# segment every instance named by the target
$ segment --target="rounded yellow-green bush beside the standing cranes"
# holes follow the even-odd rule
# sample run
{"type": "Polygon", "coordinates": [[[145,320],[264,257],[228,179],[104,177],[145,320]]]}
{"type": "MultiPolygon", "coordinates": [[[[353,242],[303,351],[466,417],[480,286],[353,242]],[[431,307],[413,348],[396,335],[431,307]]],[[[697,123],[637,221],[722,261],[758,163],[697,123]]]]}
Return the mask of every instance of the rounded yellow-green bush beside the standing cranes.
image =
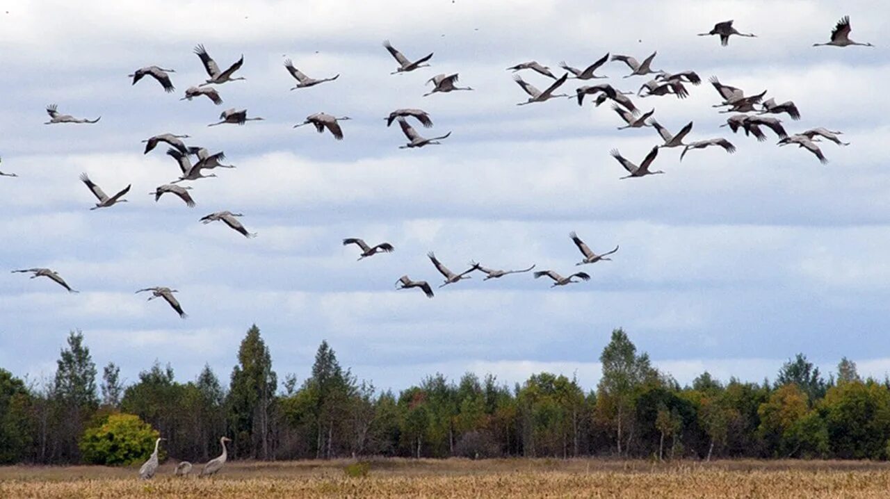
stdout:
{"type": "Polygon", "coordinates": [[[149,458],[158,431],[134,414],[108,414],[84,431],[79,447],[86,463],[132,464],[149,458]]]}

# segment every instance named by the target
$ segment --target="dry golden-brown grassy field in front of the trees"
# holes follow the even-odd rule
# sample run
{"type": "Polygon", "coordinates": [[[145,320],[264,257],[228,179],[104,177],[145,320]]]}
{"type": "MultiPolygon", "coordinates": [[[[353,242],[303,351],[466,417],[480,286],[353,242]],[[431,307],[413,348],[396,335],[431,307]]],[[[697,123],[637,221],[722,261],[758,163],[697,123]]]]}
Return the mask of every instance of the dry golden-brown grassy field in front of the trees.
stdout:
{"type": "Polygon", "coordinates": [[[890,496],[890,466],[863,462],[384,459],[364,478],[348,461],[229,463],[212,479],[150,481],[136,468],[0,468],[0,497],[627,497],[789,498],[890,496]]]}

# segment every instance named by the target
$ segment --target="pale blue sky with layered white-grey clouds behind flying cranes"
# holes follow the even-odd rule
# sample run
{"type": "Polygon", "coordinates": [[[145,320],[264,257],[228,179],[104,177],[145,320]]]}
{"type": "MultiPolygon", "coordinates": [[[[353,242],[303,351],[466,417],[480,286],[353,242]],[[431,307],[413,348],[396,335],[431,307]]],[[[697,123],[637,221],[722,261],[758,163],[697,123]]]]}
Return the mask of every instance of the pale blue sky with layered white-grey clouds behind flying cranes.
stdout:
{"type": "MultiPolygon", "coordinates": [[[[52,375],[70,329],[83,330],[98,365],[114,361],[133,381],[158,359],[192,379],[209,363],[223,380],[256,323],[279,374],[309,374],[323,339],[344,366],[378,387],[401,389],[439,371],[497,374],[505,382],[549,370],[593,387],[612,328],[624,327],[655,364],[689,382],[773,377],[798,351],[826,369],[841,356],[865,374],[890,372],[890,172],[886,138],[890,12],[870,2],[624,2],[408,0],[332,2],[10,2],[0,8],[0,366],[52,375]],[[850,15],[857,41],[877,48],[813,48],[850,15]],[[756,38],[699,37],[734,19],[756,38]],[[391,76],[392,41],[433,67],[391,76]],[[244,54],[246,81],[218,87],[223,105],[179,101],[206,74],[192,52],[205,44],[221,67],[244,54]],[[738,148],[662,149],[664,175],[619,181],[616,148],[639,162],[659,143],[651,129],[618,131],[608,106],[569,100],[517,107],[526,95],[505,68],[538,60],[586,67],[605,52],[657,69],[719,76],[749,93],[793,100],[789,132],[825,126],[852,145],[822,143],[828,165],[803,149],[732,135],[707,84],[674,97],[635,98],[689,140],[728,137],[738,148]],[[282,62],[336,82],[289,92],[282,62]],[[174,68],[176,92],[135,68],[174,68]],[[421,97],[425,81],[459,72],[474,92],[421,97]],[[101,115],[97,125],[43,125],[44,107],[101,115]],[[223,109],[265,121],[207,128],[223,109]],[[404,150],[392,109],[422,108],[440,146],[404,150]],[[349,116],[345,139],[291,128],[326,111],[349,116]],[[177,166],[141,140],[188,133],[224,150],[234,170],[193,182],[198,206],[148,193],[177,166]],[[129,203],[90,211],[78,181],[106,191],[132,183],[129,203]],[[242,212],[255,239],[198,219],[242,212]],[[577,270],[568,233],[613,262],[588,266],[590,282],[550,289],[530,275],[437,290],[396,292],[402,274],[452,269],[577,270]],[[390,241],[393,254],[356,262],[343,237],[390,241]],[[57,270],[80,294],[8,270],[57,270]],[[136,289],[180,290],[182,320],[136,289]]],[[[603,74],[636,91],[648,77],[603,74]]],[[[524,72],[541,89],[548,79],[524,72]]],[[[604,81],[604,80],[601,80],[604,81]]],[[[577,85],[570,80],[566,89],[577,85]]]]}

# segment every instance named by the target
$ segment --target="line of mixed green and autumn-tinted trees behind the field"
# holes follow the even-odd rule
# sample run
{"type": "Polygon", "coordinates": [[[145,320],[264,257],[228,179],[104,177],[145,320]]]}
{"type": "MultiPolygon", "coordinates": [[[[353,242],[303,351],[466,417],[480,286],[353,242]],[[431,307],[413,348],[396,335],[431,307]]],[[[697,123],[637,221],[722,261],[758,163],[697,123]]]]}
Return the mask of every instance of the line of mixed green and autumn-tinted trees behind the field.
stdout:
{"type": "Polygon", "coordinates": [[[252,326],[228,386],[209,366],[177,382],[158,361],[125,386],[113,363],[99,374],[74,331],[51,380],[28,382],[0,368],[0,463],[91,462],[96,447],[85,441],[107,437],[109,416],[150,444],[159,434],[167,456],[192,462],[219,454],[223,435],[231,458],[258,460],[890,457],[890,379],[862,379],[846,358],[827,378],[797,354],[773,382],[721,382],[705,372],[681,387],[616,329],[600,361],[595,390],[561,374],[510,387],[466,373],[457,381],[428,375],[396,393],[359,381],[321,342],[309,377],[279,382],[252,326]]]}

